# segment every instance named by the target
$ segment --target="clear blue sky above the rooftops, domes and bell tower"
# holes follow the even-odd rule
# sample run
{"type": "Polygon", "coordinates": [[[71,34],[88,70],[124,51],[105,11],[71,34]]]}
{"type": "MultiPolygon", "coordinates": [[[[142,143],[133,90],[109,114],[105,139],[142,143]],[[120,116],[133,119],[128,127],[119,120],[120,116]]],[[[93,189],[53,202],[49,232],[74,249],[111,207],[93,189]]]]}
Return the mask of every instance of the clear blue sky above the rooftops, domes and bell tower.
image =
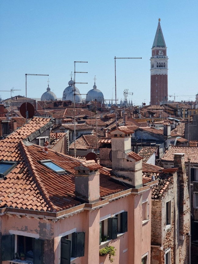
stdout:
{"type": "MultiPolygon", "coordinates": [[[[0,90],[21,89],[25,73],[49,74],[57,97],[70,80],[74,61],[76,85],[86,93],[94,85],[105,99],[115,98],[114,57],[142,57],[116,61],[117,97],[133,92],[135,104],[150,101],[150,56],[158,18],[167,45],[168,94],[194,100],[197,86],[197,1],[0,1],[0,90]]],[[[40,98],[48,77],[28,76],[27,96],[40,98]]],[[[10,93],[0,92],[2,98],[10,93]]],[[[82,96],[83,97],[83,96],[82,96]]],[[[173,98],[172,98],[173,99],[173,98]]]]}

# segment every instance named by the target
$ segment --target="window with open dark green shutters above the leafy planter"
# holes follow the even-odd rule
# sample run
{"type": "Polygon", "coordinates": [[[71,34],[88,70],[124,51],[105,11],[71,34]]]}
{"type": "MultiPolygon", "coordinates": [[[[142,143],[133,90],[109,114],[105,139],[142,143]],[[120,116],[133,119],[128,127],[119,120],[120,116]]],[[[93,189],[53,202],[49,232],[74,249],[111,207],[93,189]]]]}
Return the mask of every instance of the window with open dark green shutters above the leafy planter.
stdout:
{"type": "Polygon", "coordinates": [[[127,212],[122,212],[120,214],[115,215],[114,217],[108,218],[107,220],[108,239],[116,239],[119,234],[127,232],[127,212]]]}

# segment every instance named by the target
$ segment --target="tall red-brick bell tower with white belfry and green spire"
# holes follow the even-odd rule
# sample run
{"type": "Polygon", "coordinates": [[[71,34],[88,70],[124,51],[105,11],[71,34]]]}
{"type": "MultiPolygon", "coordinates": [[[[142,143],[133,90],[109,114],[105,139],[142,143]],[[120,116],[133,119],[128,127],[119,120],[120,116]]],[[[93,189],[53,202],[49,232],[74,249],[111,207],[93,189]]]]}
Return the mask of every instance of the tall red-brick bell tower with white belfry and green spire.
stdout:
{"type": "Polygon", "coordinates": [[[168,56],[166,54],[166,44],[161,30],[160,18],[151,50],[150,103],[151,105],[160,105],[161,101],[164,101],[165,98],[168,99],[168,56]]]}

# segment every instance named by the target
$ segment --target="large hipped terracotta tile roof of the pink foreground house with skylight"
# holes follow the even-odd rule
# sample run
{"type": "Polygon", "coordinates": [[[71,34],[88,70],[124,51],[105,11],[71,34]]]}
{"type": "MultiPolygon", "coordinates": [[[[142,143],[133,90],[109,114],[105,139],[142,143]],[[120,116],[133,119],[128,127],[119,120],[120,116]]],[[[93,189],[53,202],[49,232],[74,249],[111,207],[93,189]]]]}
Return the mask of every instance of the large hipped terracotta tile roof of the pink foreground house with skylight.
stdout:
{"type": "MultiPolygon", "coordinates": [[[[18,151],[23,155],[25,162],[12,170],[6,178],[0,180],[0,190],[2,190],[0,206],[57,212],[80,204],[75,200],[74,195],[75,171],[73,168],[80,165],[81,162],[78,159],[53,150],[49,150],[47,154],[40,146],[26,146],[22,141],[18,151]],[[65,169],[66,173],[57,174],[38,162],[44,159],[51,159],[65,169]],[[14,199],[10,199],[12,196],[14,199]]],[[[127,189],[112,182],[108,170],[102,166],[86,163],[84,165],[90,169],[99,168],[101,197],[127,189]]]]}

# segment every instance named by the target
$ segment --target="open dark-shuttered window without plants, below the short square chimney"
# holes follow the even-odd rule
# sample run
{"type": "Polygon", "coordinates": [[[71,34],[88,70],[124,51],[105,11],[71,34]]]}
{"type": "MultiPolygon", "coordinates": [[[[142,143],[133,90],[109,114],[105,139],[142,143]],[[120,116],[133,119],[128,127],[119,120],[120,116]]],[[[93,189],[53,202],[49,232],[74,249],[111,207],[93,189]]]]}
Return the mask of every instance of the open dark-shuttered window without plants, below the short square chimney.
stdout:
{"type": "Polygon", "coordinates": [[[85,232],[73,232],[61,237],[61,264],[70,264],[71,258],[84,256],[85,232]]]}

